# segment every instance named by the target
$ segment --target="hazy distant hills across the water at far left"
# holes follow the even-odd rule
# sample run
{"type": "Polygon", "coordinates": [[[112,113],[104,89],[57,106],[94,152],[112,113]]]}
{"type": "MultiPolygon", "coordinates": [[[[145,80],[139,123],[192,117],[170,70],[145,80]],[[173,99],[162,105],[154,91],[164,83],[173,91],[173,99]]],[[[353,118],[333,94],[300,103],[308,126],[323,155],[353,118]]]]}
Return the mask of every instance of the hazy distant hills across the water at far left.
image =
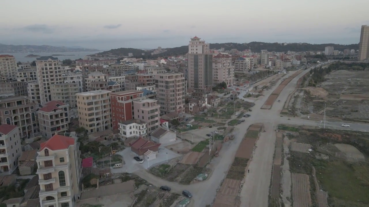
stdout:
{"type": "Polygon", "coordinates": [[[0,44],[0,53],[55,53],[55,52],[96,52],[97,49],[67,48],[50,45],[4,45],[0,44]]]}

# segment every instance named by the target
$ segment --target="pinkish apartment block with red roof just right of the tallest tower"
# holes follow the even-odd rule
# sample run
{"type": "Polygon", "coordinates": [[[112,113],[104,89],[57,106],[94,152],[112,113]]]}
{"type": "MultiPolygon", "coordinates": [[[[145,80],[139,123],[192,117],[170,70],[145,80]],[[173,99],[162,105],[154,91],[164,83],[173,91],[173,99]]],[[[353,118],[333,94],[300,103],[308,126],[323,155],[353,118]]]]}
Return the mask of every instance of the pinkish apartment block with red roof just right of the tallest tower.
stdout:
{"type": "Polygon", "coordinates": [[[229,55],[219,54],[213,57],[213,83],[226,83],[233,85],[234,66],[232,65],[232,57],[229,55]]]}

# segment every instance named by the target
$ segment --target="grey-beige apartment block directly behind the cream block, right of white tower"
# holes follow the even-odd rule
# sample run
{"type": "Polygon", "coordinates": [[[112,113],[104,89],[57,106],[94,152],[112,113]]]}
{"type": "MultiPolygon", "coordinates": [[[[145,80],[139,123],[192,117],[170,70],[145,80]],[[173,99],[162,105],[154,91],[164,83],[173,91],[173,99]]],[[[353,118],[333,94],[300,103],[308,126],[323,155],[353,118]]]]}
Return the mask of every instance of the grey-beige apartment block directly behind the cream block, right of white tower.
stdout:
{"type": "Polygon", "coordinates": [[[77,107],[76,94],[82,91],[77,83],[59,83],[51,85],[51,100],[68,104],[70,108],[77,107]]]}

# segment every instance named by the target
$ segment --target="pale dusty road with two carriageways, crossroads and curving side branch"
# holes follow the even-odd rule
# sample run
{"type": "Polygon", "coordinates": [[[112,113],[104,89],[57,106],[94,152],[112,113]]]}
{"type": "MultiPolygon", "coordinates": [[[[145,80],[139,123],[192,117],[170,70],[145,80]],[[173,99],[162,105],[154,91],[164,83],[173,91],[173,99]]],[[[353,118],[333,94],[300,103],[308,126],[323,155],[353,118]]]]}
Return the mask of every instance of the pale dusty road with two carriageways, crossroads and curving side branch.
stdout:
{"type": "MultiPolygon", "coordinates": [[[[239,144],[242,141],[244,134],[248,127],[253,123],[264,123],[266,132],[261,134],[261,137],[256,142],[256,150],[254,151],[254,158],[252,159],[249,169],[250,173],[247,173],[245,183],[241,191],[241,206],[245,207],[267,207],[269,185],[272,171],[272,162],[275,146],[275,129],[280,123],[285,124],[299,124],[308,126],[318,126],[320,121],[301,119],[297,117],[280,117],[280,112],[283,108],[283,103],[287,100],[289,94],[294,91],[297,80],[306,74],[309,70],[303,71],[295,77],[280,93],[278,99],[281,102],[276,102],[271,109],[260,109],[273,90],[282,82],[277,82],[275,87],[265,92],[265,96],[262,99],[255,101],[251,117],[246,119],[246,122],[239,124],[235,129],[235,139],[224,143],[222,150],[218,157],[212,159],[210,164],[212,165],[214,172],[210,177],[199,183],[192,185],[180,185],[175,182],[168,182],[167,180],[159,179],[146,171],[137,171],[137,175],[148,180],[148,182],[156,185],[168,185],[172,187],[173,192],[181,193],[186,189],[192,192],[193,198],[189,207],[204,207],[207,204],[211,204],[217,193],[217,189],[220,186],[221,181],[224,179],[228,168],[230,167],[239,144]],[[288,120],[290,118],[290,120],[288,120]]],[[[351,129],[365,131],[369,129],[366,124],[351,124],[349,128],[341,127],[341,122],[326,122],[326,128],[334,129],[351,129]]]]}

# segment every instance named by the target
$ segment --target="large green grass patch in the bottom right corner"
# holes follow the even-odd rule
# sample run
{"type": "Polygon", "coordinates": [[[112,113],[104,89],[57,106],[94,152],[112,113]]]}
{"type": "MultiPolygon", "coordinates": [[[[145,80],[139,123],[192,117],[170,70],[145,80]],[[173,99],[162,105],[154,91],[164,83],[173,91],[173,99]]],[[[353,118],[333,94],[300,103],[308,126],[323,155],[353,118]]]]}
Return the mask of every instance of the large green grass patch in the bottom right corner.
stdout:
{"type": "Polygon", "coordinates": [[[317,166],[317,178],[330,197],[369,204],[369,165],[367,163],[326,162],[317,166]]]}

